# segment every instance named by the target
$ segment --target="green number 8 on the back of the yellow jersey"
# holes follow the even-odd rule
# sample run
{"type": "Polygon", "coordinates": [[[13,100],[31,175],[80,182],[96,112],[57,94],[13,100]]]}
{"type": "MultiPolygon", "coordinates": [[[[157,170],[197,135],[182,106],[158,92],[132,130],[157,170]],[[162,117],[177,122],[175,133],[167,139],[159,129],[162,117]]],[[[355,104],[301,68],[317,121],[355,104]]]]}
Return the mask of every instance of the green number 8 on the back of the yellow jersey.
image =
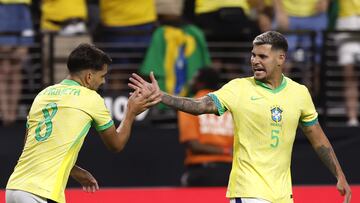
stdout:
{"type": "Polygon", "coordinates": [[[35,129],[35,139],[39,142],[44,141],[49,138],[52,132],[52,121],[51,119],[55,116],[57,112],[57,104],[56,103],[49,103],[42,109],[44,120],[38,123],[38,126],[35,129]],[[45,135],[41,135],[41,128],[45,124],[45,135]]]}

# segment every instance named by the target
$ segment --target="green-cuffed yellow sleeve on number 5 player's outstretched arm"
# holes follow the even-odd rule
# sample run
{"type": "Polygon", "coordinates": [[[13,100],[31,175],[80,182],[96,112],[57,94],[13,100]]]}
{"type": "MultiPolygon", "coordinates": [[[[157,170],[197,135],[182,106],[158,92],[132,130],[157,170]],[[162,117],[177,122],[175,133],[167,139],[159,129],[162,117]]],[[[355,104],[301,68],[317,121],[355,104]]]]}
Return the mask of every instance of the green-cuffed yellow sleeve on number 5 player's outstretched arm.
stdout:
{"type": "Polygon", "coordinates": [[[232,106],[236,106],[237,97],[235,91],[239,91],[239,87],[235,80],[225,84],[219,90],[209,93],[208,95],[215,102],[218,109],[218,115],[223,115],[227,110],[231,111],[232,106]]]}

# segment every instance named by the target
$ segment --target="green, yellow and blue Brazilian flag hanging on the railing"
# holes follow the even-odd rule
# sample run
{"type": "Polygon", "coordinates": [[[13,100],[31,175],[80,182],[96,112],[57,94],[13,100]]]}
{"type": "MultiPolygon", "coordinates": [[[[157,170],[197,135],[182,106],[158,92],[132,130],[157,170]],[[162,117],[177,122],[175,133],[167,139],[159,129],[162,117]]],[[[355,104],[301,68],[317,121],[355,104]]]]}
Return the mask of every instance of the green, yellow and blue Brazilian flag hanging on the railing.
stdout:
{"type": "Polygon", "coordinates": [[[153,33],[142,75],[154,72],[161,90],[187,96],[186,84],[198,69],[211,63],[203,32],[194,25],[161,26],[153,33]]]}

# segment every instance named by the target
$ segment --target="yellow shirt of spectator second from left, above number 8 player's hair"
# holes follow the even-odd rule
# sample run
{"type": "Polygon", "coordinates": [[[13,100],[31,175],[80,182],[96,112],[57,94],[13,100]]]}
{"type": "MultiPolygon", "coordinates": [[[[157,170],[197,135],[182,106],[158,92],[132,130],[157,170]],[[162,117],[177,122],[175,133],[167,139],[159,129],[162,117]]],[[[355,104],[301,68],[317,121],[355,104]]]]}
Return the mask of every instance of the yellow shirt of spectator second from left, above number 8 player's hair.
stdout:
{"type": "Polygon", "coordinates": [[[87,19],[87,7],[85,0],[42,0],[41,29],[58,31],[60,26],[49,22],[63,22],[71,18],[87,19]]]}

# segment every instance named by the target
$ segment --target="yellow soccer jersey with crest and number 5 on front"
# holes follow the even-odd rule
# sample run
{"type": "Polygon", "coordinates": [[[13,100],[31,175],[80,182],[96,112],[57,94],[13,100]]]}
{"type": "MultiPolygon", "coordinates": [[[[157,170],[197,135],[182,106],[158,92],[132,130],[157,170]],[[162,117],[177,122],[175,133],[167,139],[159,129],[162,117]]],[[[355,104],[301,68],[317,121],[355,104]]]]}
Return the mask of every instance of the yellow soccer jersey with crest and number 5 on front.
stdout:
{"type": "Polygon", "coordinates": [[[234,155],[226,196],[292,202],[290,162],[298,123],[317,122],[307,88],[287,77],[272,90],[253,77],[210,93],[219,114],[234,121],[234,155]]]}

